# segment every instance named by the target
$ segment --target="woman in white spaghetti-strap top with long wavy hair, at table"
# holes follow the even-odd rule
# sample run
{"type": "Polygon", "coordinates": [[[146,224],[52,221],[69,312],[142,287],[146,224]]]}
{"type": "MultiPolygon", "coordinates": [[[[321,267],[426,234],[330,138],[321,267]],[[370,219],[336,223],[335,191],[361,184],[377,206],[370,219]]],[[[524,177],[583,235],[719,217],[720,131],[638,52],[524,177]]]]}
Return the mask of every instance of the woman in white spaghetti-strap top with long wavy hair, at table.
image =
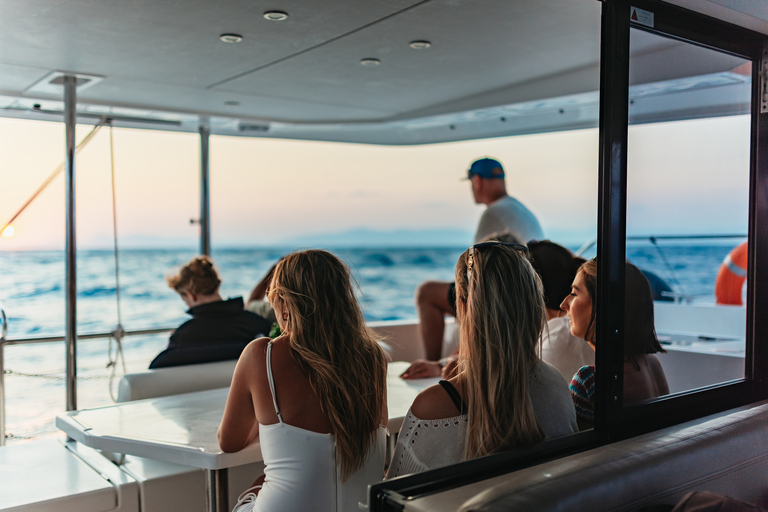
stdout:
{"type": "Polygon", "coordinates": [[[384,471],[384,352],[329,252],[288,255],[267,297],[283,334],[243,351],[219,427],[223,451],[258,435],[264,456],[236,510],[357,510],[384,471]]]}

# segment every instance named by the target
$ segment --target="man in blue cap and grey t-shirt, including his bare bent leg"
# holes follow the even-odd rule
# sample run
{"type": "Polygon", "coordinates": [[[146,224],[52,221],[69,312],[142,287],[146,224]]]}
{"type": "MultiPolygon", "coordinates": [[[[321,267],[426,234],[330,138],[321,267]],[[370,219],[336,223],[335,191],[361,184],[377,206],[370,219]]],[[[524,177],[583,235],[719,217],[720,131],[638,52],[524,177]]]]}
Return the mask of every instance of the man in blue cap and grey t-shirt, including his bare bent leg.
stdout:
{"type": "MultiPolygon", "coordinates": [[[[477,225],[474,243],[499,235],[523,244],[544,238],[536,216],[523,203],[507,194],[504,168],[498,160],[475,160],[467,171],[467,179],[472,184],[475,202],[487,206],[477,225]]],[[[443,350],[445,315],[456,316],[455,283],[421,283],[416,289],[416,310],[419,313],[419,335],[424,343],[427,360],[415,362],[402,377],[417,379],[440,376],[444,361],[438,360],[443,350]]]]}

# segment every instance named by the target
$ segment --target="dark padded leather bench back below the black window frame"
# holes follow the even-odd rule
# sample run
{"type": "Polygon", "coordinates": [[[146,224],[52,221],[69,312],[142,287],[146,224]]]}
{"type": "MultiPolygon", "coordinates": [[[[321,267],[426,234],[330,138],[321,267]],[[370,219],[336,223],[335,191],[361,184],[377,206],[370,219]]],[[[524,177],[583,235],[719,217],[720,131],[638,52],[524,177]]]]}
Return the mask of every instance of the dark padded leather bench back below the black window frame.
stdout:
{"type": "Polygon", "coordinates": [[[418,497],[402,510],[639,510],[694,490],[768,505],[768,405],[761,402],[477,484],[418,497]]]}

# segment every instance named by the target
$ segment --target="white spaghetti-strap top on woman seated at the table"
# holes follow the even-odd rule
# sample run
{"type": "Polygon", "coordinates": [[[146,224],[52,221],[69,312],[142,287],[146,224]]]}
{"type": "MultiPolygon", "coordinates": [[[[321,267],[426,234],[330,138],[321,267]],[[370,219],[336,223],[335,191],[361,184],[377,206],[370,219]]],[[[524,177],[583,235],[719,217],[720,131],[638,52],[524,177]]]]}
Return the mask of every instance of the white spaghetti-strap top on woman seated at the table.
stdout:
{"type": "Polygon", "coordinates": [[[333,434],[312,432],[283,421],[272,378],[271,343],[267,345],[267,378],[279,421],[272,425],[259,424],[266,478],[254,511],[360,510],[358,503],[367,503],[368,485],[380,482],[384,476],[386,428],[379,427],[376,445],[371,447],[363,467],[342,482],[333,434]]]}

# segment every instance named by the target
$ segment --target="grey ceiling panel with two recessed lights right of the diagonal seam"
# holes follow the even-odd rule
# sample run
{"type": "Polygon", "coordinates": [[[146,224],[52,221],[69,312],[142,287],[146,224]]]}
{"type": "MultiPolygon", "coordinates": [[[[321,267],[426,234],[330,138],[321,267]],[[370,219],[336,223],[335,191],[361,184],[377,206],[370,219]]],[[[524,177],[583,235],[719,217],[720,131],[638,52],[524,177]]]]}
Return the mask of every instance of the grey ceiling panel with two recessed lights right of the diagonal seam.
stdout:
{"type": "Polygon", "coordinates": [[[344,101],[402,116],[594,65],[599,15],[594,0],[433,0],[217,89],[344,101]],[[433,46],[413,50],[415,39],[433,46]],[[368,57],[381,65],[361,66],[368,57]]]}

